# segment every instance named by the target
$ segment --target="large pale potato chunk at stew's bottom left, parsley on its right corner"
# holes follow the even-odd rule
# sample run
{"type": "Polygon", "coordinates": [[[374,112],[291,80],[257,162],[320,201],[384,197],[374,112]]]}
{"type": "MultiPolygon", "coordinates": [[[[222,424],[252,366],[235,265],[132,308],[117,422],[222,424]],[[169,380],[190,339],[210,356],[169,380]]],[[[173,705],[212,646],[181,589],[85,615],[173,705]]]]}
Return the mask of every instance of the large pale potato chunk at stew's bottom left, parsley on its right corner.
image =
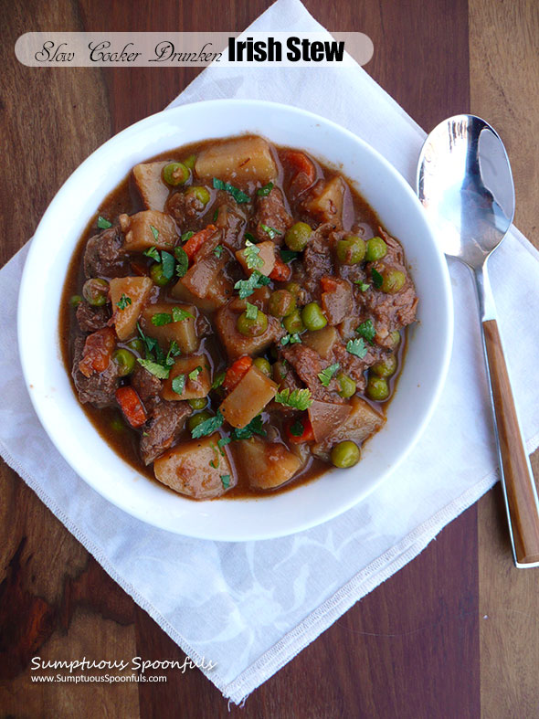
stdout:
{"type": "Polygon", "coordinates": [[[210,437],[182,442],[153,462],[157,480],[196,500],[219,497],[238,481],[227,447],[218,449],[221,439],[216,432],[210,437]]]}

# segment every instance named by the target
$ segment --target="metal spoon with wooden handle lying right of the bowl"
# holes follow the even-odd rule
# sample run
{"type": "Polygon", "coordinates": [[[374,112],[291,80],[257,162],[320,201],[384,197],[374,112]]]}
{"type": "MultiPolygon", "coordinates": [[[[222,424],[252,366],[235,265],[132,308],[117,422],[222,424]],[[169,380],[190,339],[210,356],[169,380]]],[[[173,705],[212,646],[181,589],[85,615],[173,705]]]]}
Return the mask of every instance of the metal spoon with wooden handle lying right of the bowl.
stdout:
{"type": "Polygon", "coordinates": [[[494,434],[515,566],[539,566],[539,502],[524,449],[491,295],[487,259],[514,215],[509,158],[491,125],[456,115],[428,135],[417,167],[417,196],[448,257],[467,265],[477,289],[494,434]]]}

